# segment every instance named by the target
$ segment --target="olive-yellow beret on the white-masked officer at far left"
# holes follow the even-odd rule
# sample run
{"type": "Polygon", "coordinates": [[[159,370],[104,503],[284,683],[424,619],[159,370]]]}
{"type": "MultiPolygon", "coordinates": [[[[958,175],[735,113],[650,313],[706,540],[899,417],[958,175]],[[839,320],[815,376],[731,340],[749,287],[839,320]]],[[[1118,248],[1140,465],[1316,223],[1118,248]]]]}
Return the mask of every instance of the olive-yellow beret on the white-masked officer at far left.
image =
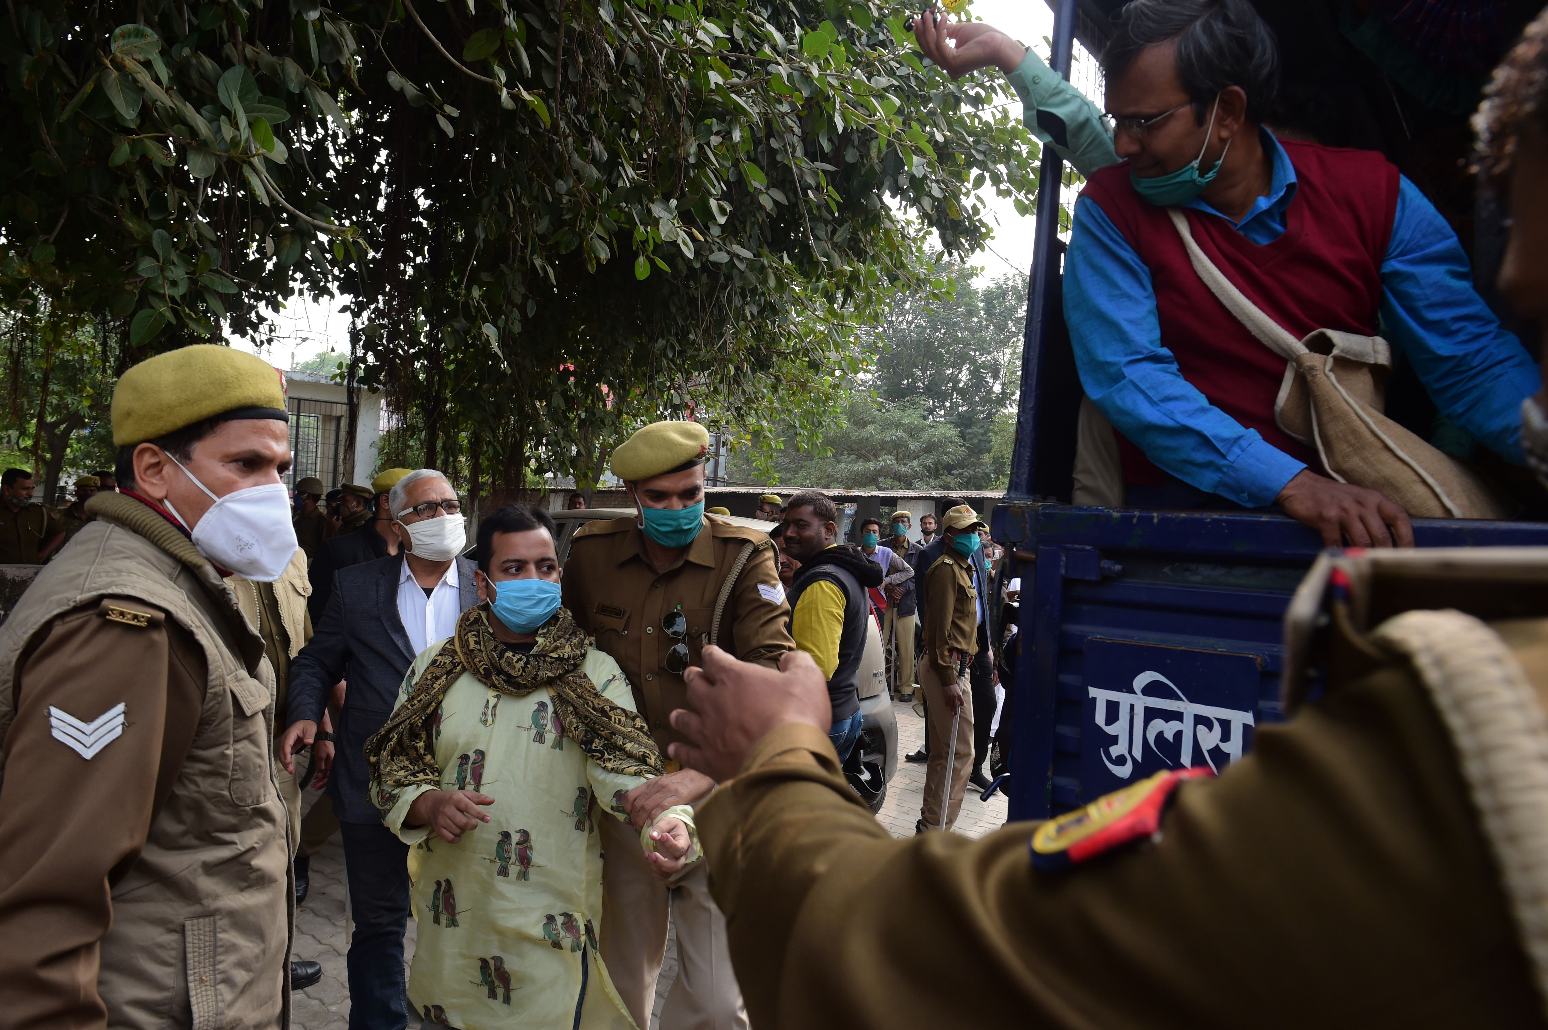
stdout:
{"type": "Polygon", "coordinates": [[[285,376],[257,354],[217,343],[149,357],[113,388],[113,445],[142,444],[217,414],[289,421],[285,376]]]}

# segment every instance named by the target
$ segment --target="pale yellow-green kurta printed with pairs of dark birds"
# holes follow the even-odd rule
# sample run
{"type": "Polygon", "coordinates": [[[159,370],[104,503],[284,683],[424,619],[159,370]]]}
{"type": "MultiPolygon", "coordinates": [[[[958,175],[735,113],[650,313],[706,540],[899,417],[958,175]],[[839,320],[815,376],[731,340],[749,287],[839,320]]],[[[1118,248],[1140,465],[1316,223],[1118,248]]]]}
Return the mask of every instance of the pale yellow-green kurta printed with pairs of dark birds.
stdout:
{"type": "MultiPolygon", "coordinates": [[[[399,705],[440,648],[433,643],[415,660],[399,705]]],[[[591,648],[584,668],[605,697],[635,708],[613,659],[591,648]]],[[[500,694],[463,673],[435,725],[441,789],[478,790],[495,801],[483,809],[491,820],[455,844],[429,827],[402,824],[413,800],[433,787],[396,792],[387,812],[387,827],[410,846],[418,920],[410,1005],[426,1025],[463,1030],[633,1027],[596,953],[602,922],[596,820],[624,818],[622,795],[644,779],[591,762],[565,738],[548,690],[500,694]]],[[[664,815],[694,834],[690,807],[664,815]]],[[[647,834],[641,843],[650,848],[647,834]]],[[[690,857],[697,854],[695,838],[690,857]]]]}

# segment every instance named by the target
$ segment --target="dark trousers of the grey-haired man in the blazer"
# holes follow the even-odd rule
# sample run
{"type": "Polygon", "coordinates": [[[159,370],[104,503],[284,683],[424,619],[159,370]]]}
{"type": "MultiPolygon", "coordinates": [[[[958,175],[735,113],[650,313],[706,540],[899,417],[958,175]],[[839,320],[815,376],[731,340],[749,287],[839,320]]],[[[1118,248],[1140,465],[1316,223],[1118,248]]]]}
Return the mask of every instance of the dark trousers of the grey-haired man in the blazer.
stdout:
{"type": "Polygon", "coordinates": [[[350,877],[350,1030],[402,1030],[409,994],[402,934],[409,923],[409,846],[381,823],[341,823],[350,877]]]}

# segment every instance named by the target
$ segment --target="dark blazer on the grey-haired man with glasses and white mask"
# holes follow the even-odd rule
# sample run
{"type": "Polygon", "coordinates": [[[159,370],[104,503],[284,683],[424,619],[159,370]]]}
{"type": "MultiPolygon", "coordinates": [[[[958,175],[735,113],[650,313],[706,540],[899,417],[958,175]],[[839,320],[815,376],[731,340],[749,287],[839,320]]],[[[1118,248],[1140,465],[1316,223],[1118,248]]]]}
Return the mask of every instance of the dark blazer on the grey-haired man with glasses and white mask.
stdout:
{"type": "MultiPolygon", "coordinates": [[[[331,541],[330,541],[331,543],[331,541]]],[[[458,608],[478,603],[474,569],[457,558],[458,608]]],[[[398,616],[398,580],[402,554],[341,569],[333,578],[333,599],[317,622],[311,640],[289,671],[286,725],[297,719],[322,721],[333,685],[350,682],[339,718],[328,793],[344,823],[379,823],[382,813],[370,800],[365,741],[387,722],[398,702],[398,687],[413,663],[413,645],[398,616]]]]}

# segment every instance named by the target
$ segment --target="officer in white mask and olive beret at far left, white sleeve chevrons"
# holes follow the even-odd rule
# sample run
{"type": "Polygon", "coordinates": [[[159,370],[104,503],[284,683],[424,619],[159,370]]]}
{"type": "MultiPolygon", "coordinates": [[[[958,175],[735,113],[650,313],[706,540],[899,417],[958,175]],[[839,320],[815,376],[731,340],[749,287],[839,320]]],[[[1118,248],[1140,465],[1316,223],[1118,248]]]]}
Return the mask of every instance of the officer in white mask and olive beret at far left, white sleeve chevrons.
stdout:
{"type": "Polygon", "coordinates": [[[124,492],[0,628],[0,1021],[285,1027],[274,671],[221,578],[296,554],[283,380],[187,346],[111,419],[124,492]]]}

